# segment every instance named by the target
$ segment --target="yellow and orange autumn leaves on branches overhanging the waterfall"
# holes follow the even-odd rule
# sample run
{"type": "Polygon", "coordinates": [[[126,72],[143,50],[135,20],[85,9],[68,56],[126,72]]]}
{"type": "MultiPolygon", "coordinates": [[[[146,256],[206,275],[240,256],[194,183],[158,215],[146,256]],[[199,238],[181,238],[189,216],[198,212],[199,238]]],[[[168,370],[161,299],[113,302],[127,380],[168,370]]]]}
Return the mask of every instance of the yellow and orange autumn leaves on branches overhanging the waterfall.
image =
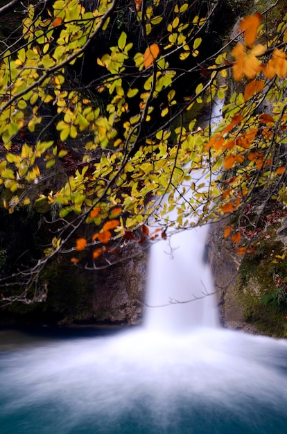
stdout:
{"type": "MultiPolygon", "coordinates": [[[[261,190],[263,202],[287,205],[287,15],[268,28],[268,11],[247,16],[234,40],[205,55],[218,2],[88,3],[27,2],[21,32],[1,40],[3,207],[50,210],[57,228],[43,257],[20,270],[15,300],[30,290],[37,300],[55,254],[78,263],[85,251],[96,268],[123,242],[243,213],[261,190]],[[195,114],[206,105],[204,124],[195,114]],[[76,239],[83,223],[89,236],[76,239]]],[[[229,235],[240,243],[236,227],[229,235]]]]}

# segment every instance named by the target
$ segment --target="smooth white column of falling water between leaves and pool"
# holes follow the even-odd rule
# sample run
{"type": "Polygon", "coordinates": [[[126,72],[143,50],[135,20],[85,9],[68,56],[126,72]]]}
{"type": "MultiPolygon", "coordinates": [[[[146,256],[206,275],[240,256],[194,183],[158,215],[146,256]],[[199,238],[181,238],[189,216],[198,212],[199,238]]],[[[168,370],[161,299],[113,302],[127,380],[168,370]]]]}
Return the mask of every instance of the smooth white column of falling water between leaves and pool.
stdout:
{"type": "Polygon", "coordinates": [[[214,287],[205,260],[208,227],[182,231],[150,252],[146,327],[166,333],[218,326],[214,287]],[[189,300],[195,300],[189,302],[189,300]]]}

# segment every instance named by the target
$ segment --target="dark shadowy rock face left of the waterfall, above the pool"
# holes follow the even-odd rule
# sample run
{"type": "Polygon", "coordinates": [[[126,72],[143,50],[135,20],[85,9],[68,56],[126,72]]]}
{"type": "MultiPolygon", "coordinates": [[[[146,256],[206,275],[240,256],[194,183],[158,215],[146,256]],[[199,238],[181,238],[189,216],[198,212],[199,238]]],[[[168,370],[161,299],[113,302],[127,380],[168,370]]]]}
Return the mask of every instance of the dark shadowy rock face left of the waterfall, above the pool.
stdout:
{"type": "MultiPolygon", "coordinates": [[[[17,265],[18,258],[21,263],[25,259],[28,266],[33,254],[42,253],[39,245],[44,244],[49,227],[43,226],[35,234],[41,216],[24,217],[11,214],[5,224],[2,219],[0,277],[3,272],[13,271],[10,264],[17,265]],[[28,256],[24,257],[22,251],[28,256]]],[[[58,255],[49,261],[41,275],[48,289],[46,301],[6,304],[0,311],[0,325],[139,324],[146,288],[147,247],[132,241],[119,249],[113,266],[100,270],[85,268],[85,259],[74,266],[69,255],[58,255]]]]}

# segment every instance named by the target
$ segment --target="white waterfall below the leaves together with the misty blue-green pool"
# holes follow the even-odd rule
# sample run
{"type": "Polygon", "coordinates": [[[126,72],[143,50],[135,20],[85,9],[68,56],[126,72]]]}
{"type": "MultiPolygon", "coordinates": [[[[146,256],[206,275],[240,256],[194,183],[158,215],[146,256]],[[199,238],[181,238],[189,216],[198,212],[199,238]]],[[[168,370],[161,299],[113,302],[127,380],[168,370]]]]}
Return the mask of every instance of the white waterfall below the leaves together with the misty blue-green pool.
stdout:
{"type": "MultiPolygon", "coordinates": [[[[206,232],[173,237],[173,259],[153,246],[148,304],[212,292],[206,232]]],[[[285,340],[218,327],[213,297],[147,308],[132,331],[0,352],[1,434],[283,434],[286,366],[285,340]]]]}

